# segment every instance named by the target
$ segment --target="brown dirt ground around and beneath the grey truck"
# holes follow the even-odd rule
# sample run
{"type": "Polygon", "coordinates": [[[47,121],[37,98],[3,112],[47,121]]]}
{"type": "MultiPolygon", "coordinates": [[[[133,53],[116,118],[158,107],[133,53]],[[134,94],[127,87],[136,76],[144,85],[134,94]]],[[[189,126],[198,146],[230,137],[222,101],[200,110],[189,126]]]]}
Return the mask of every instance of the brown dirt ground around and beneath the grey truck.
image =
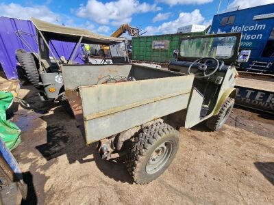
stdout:
{"type": "Polygon", "coordinates": [[[66,106],[40,102],[25,85],[9,118],[22,130],[13,151],[28,184],[23,204],[273,204],[273,116],[234,109],[210,132],[200,124],[180,130],[171,166],[150,184],[132,181],[125,163],[103,161],[84,139],[66,106]]]}

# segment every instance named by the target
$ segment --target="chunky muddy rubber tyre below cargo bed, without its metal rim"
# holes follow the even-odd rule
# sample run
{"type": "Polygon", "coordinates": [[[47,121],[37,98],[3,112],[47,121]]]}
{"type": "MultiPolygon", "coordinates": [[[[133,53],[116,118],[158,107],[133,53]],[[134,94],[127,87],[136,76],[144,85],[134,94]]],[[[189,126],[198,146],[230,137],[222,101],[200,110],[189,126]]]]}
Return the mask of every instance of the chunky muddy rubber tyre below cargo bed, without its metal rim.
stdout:
{"type": "Polygon", "coordinates": [[[158,178],[173,161],[179,146],[179,132],[163,122],[151,124],[134,135],[132,145],[126,156],[127,171],[137,184],[147,184],[158,178]],[[161,144],[171,143],[171,154],[168,155],[160,170],[147,173],[147,163],[151,154],[161,144]]]}

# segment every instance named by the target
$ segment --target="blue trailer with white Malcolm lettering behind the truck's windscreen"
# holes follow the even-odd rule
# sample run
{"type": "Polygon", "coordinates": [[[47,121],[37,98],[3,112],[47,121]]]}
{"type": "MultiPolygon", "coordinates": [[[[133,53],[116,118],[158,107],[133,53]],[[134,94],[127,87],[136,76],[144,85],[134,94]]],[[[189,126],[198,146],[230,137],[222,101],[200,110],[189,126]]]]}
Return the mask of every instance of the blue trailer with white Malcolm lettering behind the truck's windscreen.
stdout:
{"type": "Polygon", "coordinates": [[[240,50],[251,50],[251,70],[274,72],[274,3],[216,14],[210,33],[241,32],[240,50]]]}

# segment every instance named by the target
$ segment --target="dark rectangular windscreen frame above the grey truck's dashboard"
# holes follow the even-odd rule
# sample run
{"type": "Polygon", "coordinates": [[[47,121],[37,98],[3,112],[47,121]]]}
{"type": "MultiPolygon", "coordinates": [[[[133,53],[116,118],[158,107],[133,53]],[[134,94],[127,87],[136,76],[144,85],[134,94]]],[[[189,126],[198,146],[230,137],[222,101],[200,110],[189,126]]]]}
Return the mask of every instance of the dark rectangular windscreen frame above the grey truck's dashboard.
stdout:
{"type": "Polygon", "coordinates": [[[227,37],[227,36],[235,36],[236,37],[236,42],[235,42],[235,47],[234,47],[234,53],[231,57],[225,59],[218,57],[217,59],[224,61],[225,64],[233,64],[236,63],[237,57],[238,57],[238,51],[240,48],[240,39],[242,36],[242,33],[221,33],[221,34],[210,34],[210,35],[203,35],[203,36],[192,36],[192,37],[186,37],[186,38],[181,38],[180,43],[179,43],[179,55],[178,55],[178,60],[179,61],[195,61],[201,57],[185,57],[181,55],[181,44],[183,40],[190,40],[190,39],[198,39],[198,38],[219,38],[219,37],[227,37]]]}

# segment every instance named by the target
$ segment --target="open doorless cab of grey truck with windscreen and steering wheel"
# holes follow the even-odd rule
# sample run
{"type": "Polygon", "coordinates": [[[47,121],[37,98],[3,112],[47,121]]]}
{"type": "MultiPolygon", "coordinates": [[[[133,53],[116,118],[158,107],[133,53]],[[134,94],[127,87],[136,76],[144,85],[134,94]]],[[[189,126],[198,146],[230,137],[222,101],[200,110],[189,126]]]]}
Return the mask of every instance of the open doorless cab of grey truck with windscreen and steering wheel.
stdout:
{"type": "Polygon", "coordinates": [[[182,38],[177,60],[170,62],[169,70],[195,75],[193,94],[201,106],[194,108],[199,115],[191,119],[188,126],[202,119],[210,121],[227,98],[235,98],[240,36],[240,33],[223,33],[182,38]]]}

